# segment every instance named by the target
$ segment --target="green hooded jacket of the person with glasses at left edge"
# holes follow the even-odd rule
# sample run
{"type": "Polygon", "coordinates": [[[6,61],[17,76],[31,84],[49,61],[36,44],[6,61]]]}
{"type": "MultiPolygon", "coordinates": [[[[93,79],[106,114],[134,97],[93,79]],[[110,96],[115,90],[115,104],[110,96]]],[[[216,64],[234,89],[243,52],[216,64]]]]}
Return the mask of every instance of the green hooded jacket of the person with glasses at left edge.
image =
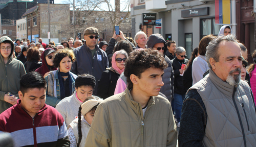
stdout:
{"type": "Polygon", "coordinates": [[[4,101],[4,96],[7,92],[11,92],[16,97],[19,91],[19,79],[26,74],[24,65],[21,61],[12,58],[14,52],[14,43],[11,38],[3,36],[0,38],[0,43],[8,40],[12,46],[11,54],[8,62],[5,64],[4,58],[0,55],[0,113],[10,108],[12,104],[4,101]]]}

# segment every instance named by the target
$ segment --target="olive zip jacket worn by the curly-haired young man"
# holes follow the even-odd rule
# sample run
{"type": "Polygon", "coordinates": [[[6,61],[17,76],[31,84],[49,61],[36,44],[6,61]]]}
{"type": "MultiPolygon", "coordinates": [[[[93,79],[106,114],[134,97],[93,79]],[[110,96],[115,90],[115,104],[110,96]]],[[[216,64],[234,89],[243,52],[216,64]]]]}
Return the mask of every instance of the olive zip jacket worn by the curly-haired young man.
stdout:
{"type": "Polygon", "coordinates": [[[85,146],[176,146],[177,129],[167,99],[150,97],[145,116],[128,89],[96,109],[85,146]]]}

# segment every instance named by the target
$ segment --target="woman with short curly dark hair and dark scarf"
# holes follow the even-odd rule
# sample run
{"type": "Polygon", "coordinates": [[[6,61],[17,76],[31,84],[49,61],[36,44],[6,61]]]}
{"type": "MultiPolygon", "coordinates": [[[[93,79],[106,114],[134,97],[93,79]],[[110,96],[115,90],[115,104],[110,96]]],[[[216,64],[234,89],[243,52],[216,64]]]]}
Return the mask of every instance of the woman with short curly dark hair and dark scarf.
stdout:
{"type": "Polygon", "coordinates": [[[72,50],[59,50],[53,59],[53,65],[58,70],[51,71],[46,76],[46,104],[55,107],[62,99],[75,91],[76,75],[70,72],[75,55],[72,50]]]}

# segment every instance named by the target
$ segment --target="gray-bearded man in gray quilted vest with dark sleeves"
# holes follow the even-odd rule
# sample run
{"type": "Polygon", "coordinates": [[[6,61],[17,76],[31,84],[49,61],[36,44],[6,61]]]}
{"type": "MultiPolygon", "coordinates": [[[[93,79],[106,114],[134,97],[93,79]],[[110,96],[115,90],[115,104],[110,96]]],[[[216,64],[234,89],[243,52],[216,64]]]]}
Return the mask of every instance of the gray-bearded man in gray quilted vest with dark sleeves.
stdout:
{"type": "Polygon", "coordinates": [[[209,74],[183,101],[179,146],[255,146],[256,114],[249,85],[241,80],[242,54],[234,36],[206,48],[209,74]]]}

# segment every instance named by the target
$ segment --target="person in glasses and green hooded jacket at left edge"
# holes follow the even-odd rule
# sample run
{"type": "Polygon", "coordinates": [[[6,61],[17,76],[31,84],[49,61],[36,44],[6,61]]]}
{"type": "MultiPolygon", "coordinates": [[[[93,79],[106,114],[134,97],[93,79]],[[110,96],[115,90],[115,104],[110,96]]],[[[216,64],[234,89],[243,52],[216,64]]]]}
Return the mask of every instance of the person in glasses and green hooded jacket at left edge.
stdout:
{"type": "Polygon", "coordinates": [[[0,114],[17,104],[19,78],[26,74],[21,61],[13,59],[14,43],[11,38],[0,38],[0,114]],[[8,94],[8,93],[11,93],[8,94]]]}

